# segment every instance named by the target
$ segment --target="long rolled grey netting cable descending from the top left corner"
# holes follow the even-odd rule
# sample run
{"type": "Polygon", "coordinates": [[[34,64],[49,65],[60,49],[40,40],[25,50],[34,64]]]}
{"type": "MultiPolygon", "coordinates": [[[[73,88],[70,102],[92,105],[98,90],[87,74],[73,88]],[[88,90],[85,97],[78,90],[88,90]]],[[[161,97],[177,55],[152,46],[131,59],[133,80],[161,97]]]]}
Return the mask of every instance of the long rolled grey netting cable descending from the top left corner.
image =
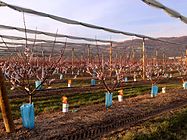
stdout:
{"type": "Polygon", "coordinates": [[[84,27],[88,27],[88,28],[92,28],[92,29],[98,29],[98,30],[103,30],[103,31],[116,33],[116,34],[123,34],[123,35],[128,35],[128,36],[136,36],[136,37],[139,37],[139,38],[147,38],[147,39],[156,40],[156,41],[160,41],[160,42],[165,42],[165,43],[169,43],[169,44],[182,45],[180,43],[169,42],[169,41],[166,41],[166,40],[161,40],[161,39],[153,38],[153,37],[150,37],[150,36],[145,36],[145,35],[135,34],[135,33],[130,33],[130,32],[124,32],[124,31],[110,29],[110,28],[105,28],[105,27],[102,27],[102,26],[88,24],[88,23],[84,23],[84,22],[80,22],[80,21],[76,21],[76,20],[71,20],[71,19],[67,19],[67,18],[63,18],[63,17],[59,17],[59,16],[55,16],[55,15],[51,15],[51,14],[35,11],[35,10],[32,10],[32,9],[11,5],[11,4],[2,2],[2,1],[0,1],[0,6],[7,6],[7,7],[13,9],[13,10],[16,10],[16,11],[19,11],[19,12],[25,12],[25,13],[29,13],[29,14],[33,14],[33,15],[38,15],[38,16],[41,16],[41,17],[48,17],[48,18],[51,18],[53,20],[56,20],[56,21],[59,21],[59,22],[62,22],[62,23],[66,23],[66,24],[81,25],[81,26],[84,26],[84,27]]]}

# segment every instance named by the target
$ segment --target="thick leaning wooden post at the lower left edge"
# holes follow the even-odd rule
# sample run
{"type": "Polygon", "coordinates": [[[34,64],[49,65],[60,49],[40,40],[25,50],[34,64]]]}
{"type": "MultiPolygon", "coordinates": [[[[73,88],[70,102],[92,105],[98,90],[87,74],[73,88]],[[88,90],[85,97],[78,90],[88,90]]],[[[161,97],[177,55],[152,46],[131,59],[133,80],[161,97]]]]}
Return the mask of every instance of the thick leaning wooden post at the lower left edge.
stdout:
{"type": "Polygon", "coordinates": [[[2,112],[2,117],[3,117],[6,132],[7,133],[13,132],[14,123],[12,119],[11,109],[8,102],[8,96],[6,93],[4,77],[1,68],[0,68],[0,106],[1,106],[1,112],[2,112]]]}

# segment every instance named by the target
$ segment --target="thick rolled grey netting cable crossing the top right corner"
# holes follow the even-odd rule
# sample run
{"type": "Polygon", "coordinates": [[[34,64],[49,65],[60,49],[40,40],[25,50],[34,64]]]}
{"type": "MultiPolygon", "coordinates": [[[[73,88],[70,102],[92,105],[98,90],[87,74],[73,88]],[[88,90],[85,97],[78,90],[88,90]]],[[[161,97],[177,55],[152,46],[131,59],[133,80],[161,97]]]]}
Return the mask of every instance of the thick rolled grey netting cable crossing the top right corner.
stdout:
{"type": "Polygon", "coordinates": [[[146,4],[148,4],[148,5],[151,5],[153,7],[164,10],[170,16],[175,17],[175,18],[179,18],[181,21],[183,21],[184,23],[187,24],[187,17],[181,15],[179,12],[177,12],[177,11],[171,9],[171,8],[166,7],[162,3],[160,3],[156,0],[142,0],[142,1],[146,4]]]}

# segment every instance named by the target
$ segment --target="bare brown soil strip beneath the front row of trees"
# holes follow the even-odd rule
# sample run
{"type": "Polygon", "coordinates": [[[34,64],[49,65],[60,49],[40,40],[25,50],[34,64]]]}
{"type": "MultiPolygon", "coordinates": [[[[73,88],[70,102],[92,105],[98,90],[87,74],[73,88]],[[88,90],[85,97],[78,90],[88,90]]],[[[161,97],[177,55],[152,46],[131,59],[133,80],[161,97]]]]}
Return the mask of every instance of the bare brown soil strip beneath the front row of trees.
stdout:
{"type": "MultiPolygon", "coordinates": [[[[132,98],[126,98],[123,102],[113,101],[112,107],[108,110],[105,109],[104,103],[102,103],[80,107],[77,111],[70,110],[68,113],[62,113],[60,111],[43,113],[35,117],[35,128],[32,130],[23,128],[21,119],[18,119],[14,121],[16,131],[11,134],[5,133],[1,120],[0,139],[68,139],[71,138],[68,136],[74,134],[104,127],[109,123],[115,124],[118,123],[119,120],[140,116],[158,110],[159,108],[168,108],[169,106],[172,108],[182,102],[186,102],[187,105],[186,90],[171,89],[168,90],[167,93],[159,93],[155,98],[151,98],[150,94],[147,93],[132,98]]],[[[168,110],[166,109],[166,111],[168,110]]],[[[120,129],[121,128],[123,127],[120,127],[120,129]]],[[[116,130],[117,129],[118,128],[116,128],[116,130]]],[[[94,138],[85,138],[85,136],[83,136],[83,138],[102,139],[107,133],[100,133],[99,136],[94,138]]],[[[94,136],[94,134],[92,135],[94,136]]],[[[74,138],[81,139],[80,137],[74,138]]]]}

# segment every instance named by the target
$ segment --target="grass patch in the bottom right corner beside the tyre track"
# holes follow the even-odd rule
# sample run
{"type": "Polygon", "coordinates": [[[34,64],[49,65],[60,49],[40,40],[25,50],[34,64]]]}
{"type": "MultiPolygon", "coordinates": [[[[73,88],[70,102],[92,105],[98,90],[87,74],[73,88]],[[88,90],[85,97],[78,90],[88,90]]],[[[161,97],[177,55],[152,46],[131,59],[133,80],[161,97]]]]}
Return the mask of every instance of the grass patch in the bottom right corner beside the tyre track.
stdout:
{"type": "Polygon", "coordinates": [[[111,140],[186,140],[187,107],[171,116],[146,121],[129,131],[112,136],[111,140]]]}

